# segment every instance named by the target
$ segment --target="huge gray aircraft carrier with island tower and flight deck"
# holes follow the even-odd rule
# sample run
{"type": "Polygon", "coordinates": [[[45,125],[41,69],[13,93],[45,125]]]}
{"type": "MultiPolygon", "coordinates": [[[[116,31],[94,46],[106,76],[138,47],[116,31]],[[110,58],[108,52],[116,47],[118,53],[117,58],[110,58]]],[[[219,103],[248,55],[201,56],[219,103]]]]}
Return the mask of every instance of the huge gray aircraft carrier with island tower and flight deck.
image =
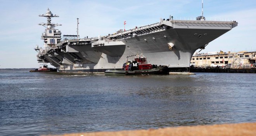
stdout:
{"type": "Polygon", "coordinates": [[[47,23],[39,24],[46,29],[41,36],[43,47],[37,45],[35,48],[37,60],[50,63],[60,72],[121,69],[128,56],[138,53],[143,53],[151,64],[167,65],[169,71],[188,71],[197,49],[204,49],[209,42],[238,24],[236,21],[206,21],[204,16],[194,21],[170,17],[146,26],[120,29],[106,36],[79,38],[78,28],[77,35],[62,37],[61,31],[55,29],[61,24],[51,23],[52,17],[59,16],[49,9],[39,16],[46,17],[47,23]]]}

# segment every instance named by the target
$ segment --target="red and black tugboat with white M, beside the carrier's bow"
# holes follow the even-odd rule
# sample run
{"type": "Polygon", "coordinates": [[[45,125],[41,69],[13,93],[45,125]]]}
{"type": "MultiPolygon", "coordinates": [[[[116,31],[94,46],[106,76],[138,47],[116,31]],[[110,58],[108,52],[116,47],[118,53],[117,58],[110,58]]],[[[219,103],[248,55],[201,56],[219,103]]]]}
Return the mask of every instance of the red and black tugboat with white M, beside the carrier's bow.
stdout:
{"type": "Polygon", "coordinates": [[[125,74],[125,75],[138,75],[138,74],[169,74],[168,66],[166,65],[152,65],[147,62],[147,58],[142,54],[131,55],[127,57],[126,63],[123,64],[121,70],[107,69],[105,74],[125,74]],[[135,56],[134,61],[128,61],[128,57],[135,56]]]}

